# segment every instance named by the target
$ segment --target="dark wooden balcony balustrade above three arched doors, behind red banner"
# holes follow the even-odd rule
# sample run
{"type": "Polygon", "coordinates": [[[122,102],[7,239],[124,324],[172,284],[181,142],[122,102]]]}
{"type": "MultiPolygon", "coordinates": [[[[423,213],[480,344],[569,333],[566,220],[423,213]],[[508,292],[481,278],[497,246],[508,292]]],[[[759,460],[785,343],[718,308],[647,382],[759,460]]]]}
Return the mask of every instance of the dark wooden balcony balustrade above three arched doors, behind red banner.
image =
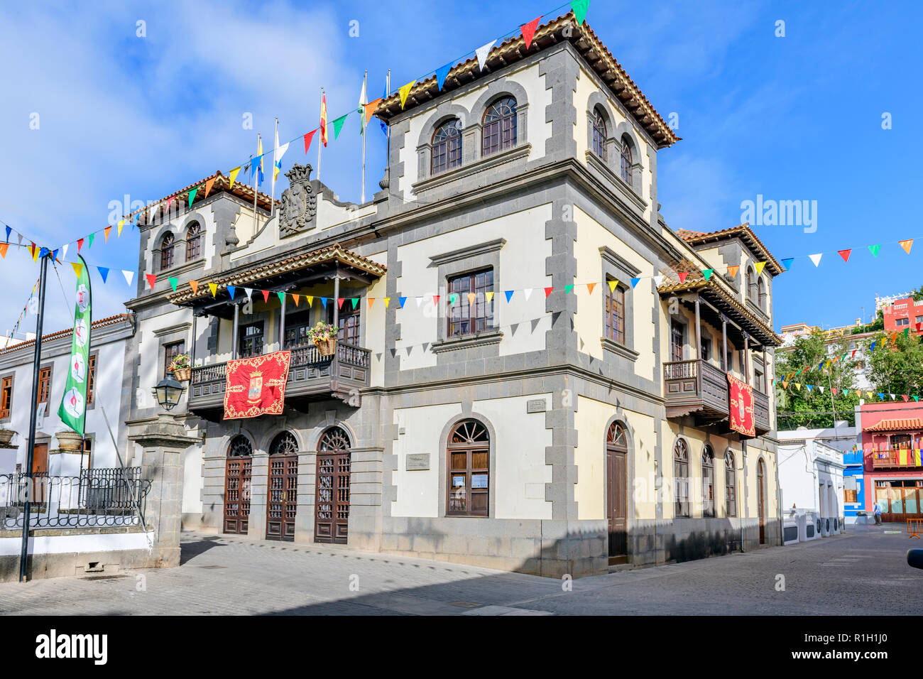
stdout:
{"type": "MultiPolygon", "coordinates": [[[[321,356],[317,346],[291,349],[285,405],[306,411],[308,404],[339,398],[350,406],[359,406],[359,391],[368,386],[371,350],[337,343],[333,356],[321,356]]],[[[224,413],[225,368],[227,363],[213,363],[192,369],[189,380],[190,412],[199,417],[221,420],[224,413]]]]}

